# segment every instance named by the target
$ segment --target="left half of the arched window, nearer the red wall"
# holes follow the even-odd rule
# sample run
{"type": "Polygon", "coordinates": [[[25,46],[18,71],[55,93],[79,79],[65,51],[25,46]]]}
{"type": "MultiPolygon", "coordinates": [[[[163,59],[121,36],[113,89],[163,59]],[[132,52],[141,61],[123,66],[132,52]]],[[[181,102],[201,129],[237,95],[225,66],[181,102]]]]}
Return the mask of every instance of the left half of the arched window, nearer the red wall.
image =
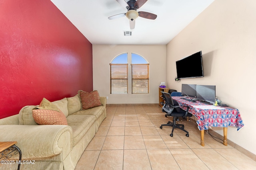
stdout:
{"type": "Polygon", "coordinates": [[[118,55],[110,63],[110,94],[128,93],[127,53],[118,55]]]}

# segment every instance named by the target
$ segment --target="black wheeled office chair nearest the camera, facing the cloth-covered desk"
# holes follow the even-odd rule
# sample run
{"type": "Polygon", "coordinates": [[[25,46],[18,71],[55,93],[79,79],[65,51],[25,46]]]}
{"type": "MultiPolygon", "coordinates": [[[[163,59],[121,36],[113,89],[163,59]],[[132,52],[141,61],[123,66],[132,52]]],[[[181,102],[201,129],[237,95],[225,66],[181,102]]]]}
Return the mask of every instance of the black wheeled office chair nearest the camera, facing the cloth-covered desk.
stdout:
{"type": "Polygon", "coordinates": [[[175,128],[178,128],[178,129],[186,132],[187,133],[186,137],[188,137],[189,136],[188,131],[186,131],[184,129],[183,124],[176,124],[176,119],[177,119],[177,117],[183,117],[183,118],[185,118],[186,116],[191,117],[192,114],[188,113],[188,108],[189,107],[187,108],[187,111],[184,111],[180,108],[180,106],[174,106],[172,97],[169,93],[162,92],[162,94],[163,94],[163,97],[164,97],[164,100],[165,100],[165,104],[162,107],[162,111],[166,112],[167,116],[172,116],[173,117],[173,122],[168,121],[167,124],[161,125],[160,129],[162,129],[163,126],[172,126],[172,133],[170,134],[171,137],[173,136],[173,131],[174,131],[175,128]]]}

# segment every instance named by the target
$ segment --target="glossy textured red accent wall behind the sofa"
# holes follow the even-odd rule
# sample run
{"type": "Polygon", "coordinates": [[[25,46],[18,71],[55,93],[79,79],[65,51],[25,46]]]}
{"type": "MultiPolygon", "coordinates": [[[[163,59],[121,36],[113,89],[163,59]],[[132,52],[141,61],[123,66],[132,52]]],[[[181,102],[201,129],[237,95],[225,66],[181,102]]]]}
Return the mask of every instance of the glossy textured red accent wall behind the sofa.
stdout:
{"type": "Polygon", "coordinates": [[[50,0],[0,2],[0,118],[90,92],[92,44],[50,0]]]}

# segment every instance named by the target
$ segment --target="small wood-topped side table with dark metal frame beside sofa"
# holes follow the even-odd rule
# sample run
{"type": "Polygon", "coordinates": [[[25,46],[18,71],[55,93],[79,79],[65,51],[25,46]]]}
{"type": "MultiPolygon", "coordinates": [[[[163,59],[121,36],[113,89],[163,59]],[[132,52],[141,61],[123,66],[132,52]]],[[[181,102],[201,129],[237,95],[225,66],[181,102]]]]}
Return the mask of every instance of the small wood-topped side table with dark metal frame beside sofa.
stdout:
{"type": "Polygon", "coordinates": [[[17,142],[0,142],[0,161],[1,164],[15,164],[18,162],[18,170],[20,169],[20,162],[21,162],[21,151],[15,145],[17,142]],[[7,158],[12,157],[13,154],[20,154],[19,161],[8,161],[7,158]]]}

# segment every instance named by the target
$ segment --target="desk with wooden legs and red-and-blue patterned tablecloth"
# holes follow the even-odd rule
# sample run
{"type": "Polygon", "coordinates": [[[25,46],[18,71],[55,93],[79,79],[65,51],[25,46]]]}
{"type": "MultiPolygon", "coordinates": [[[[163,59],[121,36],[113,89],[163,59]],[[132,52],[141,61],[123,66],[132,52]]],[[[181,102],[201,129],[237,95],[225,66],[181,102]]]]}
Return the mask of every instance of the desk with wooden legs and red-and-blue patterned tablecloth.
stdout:
{"type": "Polygon", "coordinates": [[[183,98],[184,96],[172,97],[173,100],[178,102],[182,109],[186,110],[186,106],[188,106],[188,112],[196,116],[196,123],[198,124],[198,129],[201,131],[202,146],[204,146],[204,130],[207,130],[208,127],[223,127],[224,145],[228,145],[228,126],[237,127],[237,131],[244,127],[238,109],[203,104],[200,101],[190,102],[183,98]]]}

